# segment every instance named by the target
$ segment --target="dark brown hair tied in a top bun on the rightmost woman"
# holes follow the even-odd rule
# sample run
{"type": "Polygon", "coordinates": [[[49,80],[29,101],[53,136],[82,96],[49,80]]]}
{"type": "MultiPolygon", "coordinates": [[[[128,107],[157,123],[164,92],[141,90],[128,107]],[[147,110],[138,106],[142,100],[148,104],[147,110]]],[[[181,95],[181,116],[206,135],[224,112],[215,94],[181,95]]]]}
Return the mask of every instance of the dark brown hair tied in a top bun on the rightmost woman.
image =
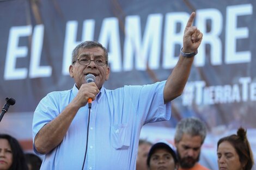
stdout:
{"type": "Polygon", "coordinates": [[[218,141],[217,148],[222,142],[225,141],[229,142],[235,148],[236,153],[239,155],[239,160],[243,166],[243,169],[252,169],[254,160],[252,149],[246,136],[246,130],[239,128],[236,135],[234,134],[221,138],[218,141]]]}

